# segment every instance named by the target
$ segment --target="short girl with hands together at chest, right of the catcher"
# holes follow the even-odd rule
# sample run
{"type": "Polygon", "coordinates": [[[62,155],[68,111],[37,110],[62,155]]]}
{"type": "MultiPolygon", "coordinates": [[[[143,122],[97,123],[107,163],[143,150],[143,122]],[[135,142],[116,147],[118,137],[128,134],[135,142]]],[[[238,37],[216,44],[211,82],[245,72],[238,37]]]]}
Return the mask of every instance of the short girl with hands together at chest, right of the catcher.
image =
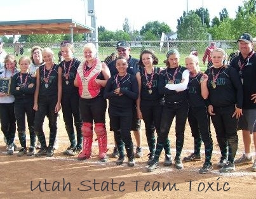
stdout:
{"type": "Polygon", "coordinates": [[[135,165],[133,141],[131,139],[131,122],[133,101],[138,98],[138,82],[135,75],[126,72],[128,67],[124,56],[116,60],[118,74],[113,75],[108,81],[104,91],[104,98],[109,99],[109,118],[114,131],[114,138],[118,146],[119,158],[117,165],[123,164],[125,155],[123,142],[128,156],[128,166],[135,165]]]}

